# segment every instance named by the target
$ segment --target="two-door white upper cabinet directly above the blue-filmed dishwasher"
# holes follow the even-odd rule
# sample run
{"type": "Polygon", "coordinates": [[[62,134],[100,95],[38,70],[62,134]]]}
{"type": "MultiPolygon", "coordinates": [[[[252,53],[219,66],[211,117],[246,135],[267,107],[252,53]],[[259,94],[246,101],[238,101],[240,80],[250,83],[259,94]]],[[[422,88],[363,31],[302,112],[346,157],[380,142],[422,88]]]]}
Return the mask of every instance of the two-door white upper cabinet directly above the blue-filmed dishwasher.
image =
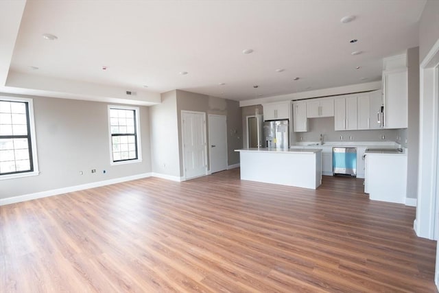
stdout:
{"type": "Polygon", "coordinates": [[[335,130],[357,130],[357,96],[346,95],[334,99],[335,130]]]}

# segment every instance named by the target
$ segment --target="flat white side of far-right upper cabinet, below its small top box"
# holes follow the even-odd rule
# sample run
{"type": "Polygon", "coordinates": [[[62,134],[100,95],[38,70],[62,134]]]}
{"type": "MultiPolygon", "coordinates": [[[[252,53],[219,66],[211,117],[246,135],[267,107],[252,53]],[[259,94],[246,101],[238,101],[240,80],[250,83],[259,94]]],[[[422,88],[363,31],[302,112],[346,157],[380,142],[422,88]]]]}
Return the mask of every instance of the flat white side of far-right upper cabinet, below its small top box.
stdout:
{"type": "Polygon", "coordinates": [[[385,128],[407,128],[407,70],[385,73],[385,128]]]}

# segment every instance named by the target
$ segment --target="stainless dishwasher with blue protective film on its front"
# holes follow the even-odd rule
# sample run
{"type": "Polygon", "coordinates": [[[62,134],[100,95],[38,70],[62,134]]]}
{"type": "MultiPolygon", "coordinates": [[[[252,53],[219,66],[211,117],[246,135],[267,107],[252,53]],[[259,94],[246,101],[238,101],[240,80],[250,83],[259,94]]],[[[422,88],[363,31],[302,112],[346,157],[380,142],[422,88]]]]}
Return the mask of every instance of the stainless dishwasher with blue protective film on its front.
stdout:
{"type": "Polygon", "coordinates": [[[357,148],[332,148],[333,174],[357,176],[357,148]]]}

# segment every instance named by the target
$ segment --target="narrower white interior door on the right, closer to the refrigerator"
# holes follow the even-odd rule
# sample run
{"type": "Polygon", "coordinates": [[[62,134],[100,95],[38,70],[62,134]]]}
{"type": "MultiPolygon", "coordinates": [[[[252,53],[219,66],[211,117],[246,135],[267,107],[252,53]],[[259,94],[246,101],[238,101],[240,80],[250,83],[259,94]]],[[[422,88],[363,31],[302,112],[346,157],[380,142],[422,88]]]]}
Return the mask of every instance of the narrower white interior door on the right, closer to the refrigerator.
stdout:
{"type": "Polygon", "coordinates": [[[224,115],[209,115],[209,154],[211,173],[227,169],[227,119],[224,115]]]}

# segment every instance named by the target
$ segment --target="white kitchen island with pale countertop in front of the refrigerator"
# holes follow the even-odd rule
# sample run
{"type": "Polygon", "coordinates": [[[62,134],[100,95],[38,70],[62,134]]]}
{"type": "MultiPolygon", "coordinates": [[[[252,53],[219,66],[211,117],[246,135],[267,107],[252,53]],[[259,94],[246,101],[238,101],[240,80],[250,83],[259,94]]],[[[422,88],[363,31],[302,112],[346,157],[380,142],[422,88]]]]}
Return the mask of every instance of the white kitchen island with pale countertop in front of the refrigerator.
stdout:
{"type": "Polygon", "coordinates": [[[246,148],[239,152],[241,180],[316,189],[322,184],[322,150],[246,148]]]}

